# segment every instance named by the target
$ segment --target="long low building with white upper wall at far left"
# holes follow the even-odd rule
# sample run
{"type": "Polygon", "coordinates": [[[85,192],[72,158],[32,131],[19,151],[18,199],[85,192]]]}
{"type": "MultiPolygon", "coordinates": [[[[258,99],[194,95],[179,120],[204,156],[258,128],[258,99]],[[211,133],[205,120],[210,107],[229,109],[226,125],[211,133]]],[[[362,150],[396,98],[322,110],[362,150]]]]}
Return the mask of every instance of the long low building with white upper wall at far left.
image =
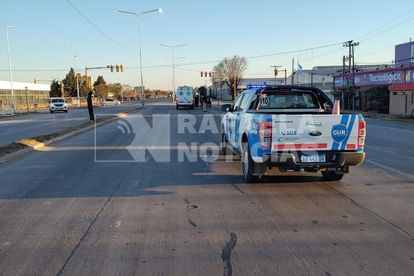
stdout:
{"type": "MultiPolygon", "coordinates": [[[[14,104],[16,108],[33,107],[34,103],[45,106],[49,101],[50,85],[13,81],[14,104]],[[27,94],[26,94],[27,88],[27,94]]],[[[0,81],[0,108],[11,108],[12,90],[10,81],[0,81]]]]}

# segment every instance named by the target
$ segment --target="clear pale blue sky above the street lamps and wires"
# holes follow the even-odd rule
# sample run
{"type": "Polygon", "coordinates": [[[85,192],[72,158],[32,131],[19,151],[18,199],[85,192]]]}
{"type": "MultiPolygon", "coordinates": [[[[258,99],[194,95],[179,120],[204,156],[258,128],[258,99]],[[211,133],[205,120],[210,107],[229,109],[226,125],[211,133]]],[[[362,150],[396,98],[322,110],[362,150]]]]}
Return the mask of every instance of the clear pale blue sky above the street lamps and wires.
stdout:
{"type": "Polygon", "coordinates": [[[14,81],[48,83],[65,77],[75,68],[73,46],[82,74],[86,66],[124,64],[123,73],[89,72],[94,79],[103,75],[109,83],[139,86],[137,17],[115,10],[157,8],[163,11],[141,15],[144,86],[150,89],[172,89],[171,59],[166,58],[172,50],[160,43],[187,44],[175,48],[175,57],[184,57],[176,60],[176,84],[201,86],[210,84],[201,70],[210,71],[233,55],[248,58],[245,77],[274,77],[270,66],[282,66],[290,75],[292,58],[295,68],[297,59],[303,69],[341,65],[348,55],[344,41],[360,43],[355,62],[385,63],[394,59],[395,45],[414,39],[412,0],[1,0],[0,80],[10,79],[6,26],[16,26],[8,29],[14,81]],[[305,50],[310,48],[318,49],[305,50]]]}

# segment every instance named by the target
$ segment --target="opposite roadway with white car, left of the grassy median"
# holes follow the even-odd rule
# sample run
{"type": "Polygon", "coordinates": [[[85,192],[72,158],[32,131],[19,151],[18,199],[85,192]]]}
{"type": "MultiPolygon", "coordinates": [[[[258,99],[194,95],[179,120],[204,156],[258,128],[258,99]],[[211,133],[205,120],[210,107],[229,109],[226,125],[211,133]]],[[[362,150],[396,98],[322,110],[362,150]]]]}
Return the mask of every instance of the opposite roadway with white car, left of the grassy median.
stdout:
{"type": "MultiPolygon", "coordinates": [[[[94,106],[95,115],[102,113],[116,114],[137,108],[140,102],[122,103],[120,106],[94,106]]],[[[77,126],[89,120],[88,108],[69,107],[68,113],[50,113],[48,109],[14,117],[0,117],[0,146],[6,146],[23,138],[36,137],[52,132],[59,132],[70,126],[77,126]]]]}

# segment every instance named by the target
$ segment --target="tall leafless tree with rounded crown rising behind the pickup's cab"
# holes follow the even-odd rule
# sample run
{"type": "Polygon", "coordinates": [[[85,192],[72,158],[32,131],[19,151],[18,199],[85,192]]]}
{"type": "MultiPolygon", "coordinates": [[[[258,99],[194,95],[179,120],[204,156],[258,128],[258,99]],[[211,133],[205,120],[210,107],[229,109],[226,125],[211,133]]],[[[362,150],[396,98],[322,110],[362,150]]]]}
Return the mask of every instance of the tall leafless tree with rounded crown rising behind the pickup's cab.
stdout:
{"type": "MultiPolygon", "coordinates": [[[[215,80],[223,81],[230,90],[237,89],[246,69],[246,58],[237,55],[232,58],[225,57],[213,68],[215,80]]],[[[235,97],[236,95],[234,93],[233,99],[235,97]]]]}

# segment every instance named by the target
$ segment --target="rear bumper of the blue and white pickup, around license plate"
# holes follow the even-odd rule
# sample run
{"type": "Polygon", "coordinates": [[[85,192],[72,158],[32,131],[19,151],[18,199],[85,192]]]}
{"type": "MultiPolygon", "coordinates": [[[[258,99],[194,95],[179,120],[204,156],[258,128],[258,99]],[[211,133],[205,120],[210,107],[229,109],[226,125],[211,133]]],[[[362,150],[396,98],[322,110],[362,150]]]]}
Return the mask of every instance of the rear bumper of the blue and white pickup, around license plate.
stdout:
{"type": "Polygon", "coordinates": [[[364,161],[365,152],[326,152],[324,163],[301,163],[298,155],[287,152],[267,153],[262,159],[267,167],[358,166],[364,161]]]}

